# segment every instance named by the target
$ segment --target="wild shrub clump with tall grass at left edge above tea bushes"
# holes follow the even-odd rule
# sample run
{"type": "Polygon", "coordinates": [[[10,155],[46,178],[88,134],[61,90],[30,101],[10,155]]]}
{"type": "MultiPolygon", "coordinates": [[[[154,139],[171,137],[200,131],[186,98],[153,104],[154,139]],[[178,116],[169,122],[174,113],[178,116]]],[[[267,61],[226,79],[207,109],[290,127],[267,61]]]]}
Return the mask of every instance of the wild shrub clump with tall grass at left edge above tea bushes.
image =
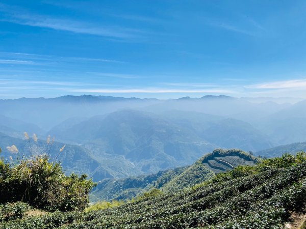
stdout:
{"type": "Polygon", "coordinates": [[[60,163],[46,155],[17,161],[0,159],[0,204],[24,202],[48,211],[83,210],[94,186],[86,175],[65,176],[60,163]]]}

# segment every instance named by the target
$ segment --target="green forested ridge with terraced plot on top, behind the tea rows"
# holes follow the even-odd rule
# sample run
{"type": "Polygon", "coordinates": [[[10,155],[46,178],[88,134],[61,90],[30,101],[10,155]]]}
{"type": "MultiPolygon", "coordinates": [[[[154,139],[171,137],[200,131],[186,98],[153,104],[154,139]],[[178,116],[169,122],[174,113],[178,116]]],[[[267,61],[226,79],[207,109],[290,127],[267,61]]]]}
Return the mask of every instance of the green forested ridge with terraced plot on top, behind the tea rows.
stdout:
{"type": "Polygon", "coordinates": [[[131,199],[151,188],[165,193],[176,192],[211,179],[222,171],[238,165],[254,165],[259,159],[241,150],[214,150],[190,166],[159,171],[159,173],[125,179],[105,179],[90,193],[92,202],[101,199],[131,199]],[[214,165],[211,165],[215,162],[214,165]]]}

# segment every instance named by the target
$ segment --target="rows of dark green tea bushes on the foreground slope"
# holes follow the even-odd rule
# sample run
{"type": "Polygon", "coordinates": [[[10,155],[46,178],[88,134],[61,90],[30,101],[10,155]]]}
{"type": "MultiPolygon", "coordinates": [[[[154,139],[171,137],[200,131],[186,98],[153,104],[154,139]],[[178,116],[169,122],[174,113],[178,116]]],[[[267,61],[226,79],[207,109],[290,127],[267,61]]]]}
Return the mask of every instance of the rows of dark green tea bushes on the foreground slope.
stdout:
{"type": "Polygon", "coordinates": [[[283,228],[306,204],[306,155],[238,166],[175,194],[90,212],[50,213],[3,228],[283,228]]]}

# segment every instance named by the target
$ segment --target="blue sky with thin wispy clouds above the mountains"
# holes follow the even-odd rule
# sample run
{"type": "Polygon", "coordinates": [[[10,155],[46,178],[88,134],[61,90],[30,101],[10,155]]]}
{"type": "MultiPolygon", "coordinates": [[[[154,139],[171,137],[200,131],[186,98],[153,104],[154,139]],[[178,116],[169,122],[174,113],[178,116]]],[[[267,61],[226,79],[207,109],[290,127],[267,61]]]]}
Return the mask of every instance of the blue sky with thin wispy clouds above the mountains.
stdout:
{"type": "Polygon", "coordinates": [[[0,3],[0,98],[306,98],[305,1],[0,3]]]}

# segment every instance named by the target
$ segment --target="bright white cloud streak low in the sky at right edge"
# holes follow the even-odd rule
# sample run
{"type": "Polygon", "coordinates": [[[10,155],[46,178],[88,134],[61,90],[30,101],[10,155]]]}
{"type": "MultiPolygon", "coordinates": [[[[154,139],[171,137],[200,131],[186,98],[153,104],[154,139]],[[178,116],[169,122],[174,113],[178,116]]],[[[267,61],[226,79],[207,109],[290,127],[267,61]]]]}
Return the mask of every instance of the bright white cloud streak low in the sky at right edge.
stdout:
{"type": "Polygon", "coordinates": [[[294,79],[284,81],[265,82],[246,85],[249,89],[306,89],[306,79],[294,79]]]}

